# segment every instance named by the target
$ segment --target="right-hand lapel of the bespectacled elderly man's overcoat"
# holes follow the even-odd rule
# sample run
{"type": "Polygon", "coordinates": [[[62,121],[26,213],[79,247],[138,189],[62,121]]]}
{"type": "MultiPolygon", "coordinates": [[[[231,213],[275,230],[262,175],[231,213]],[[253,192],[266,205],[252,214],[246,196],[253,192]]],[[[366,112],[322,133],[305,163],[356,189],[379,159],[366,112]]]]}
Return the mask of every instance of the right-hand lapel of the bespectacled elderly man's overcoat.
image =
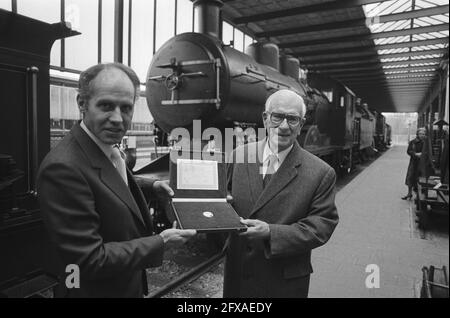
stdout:
{"type": "MultiPolygon", "coordinates": [[[[282,191],[285,187],[287,187],[287,185],[297,177],[297,167],[300,165],[301,165],[301,149],[298,143],[295,142],[291,152],[287,155],[286,159],[283,161],[280,168],[273,175],[269,184],[264,188],[264,190],[262,190],[249,217],[255,214],[258,210],[260,210],[270,200],[275,198],[275,196],[280,191],[282,191]]],[[[259,177],[261,178],[261,187],[262,187],[262,175],[259,175],[259,177]]]]}

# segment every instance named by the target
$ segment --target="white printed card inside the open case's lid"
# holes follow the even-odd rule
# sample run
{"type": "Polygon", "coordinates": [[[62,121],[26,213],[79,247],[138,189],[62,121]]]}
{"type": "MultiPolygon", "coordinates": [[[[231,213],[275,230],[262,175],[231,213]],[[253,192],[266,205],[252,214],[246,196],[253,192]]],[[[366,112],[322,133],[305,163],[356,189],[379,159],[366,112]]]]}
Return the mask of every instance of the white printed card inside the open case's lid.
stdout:
{"type": "Polygon", "coordinates": [[[180,190],[219,190],[217,161],[177,159],[180,190]]]}

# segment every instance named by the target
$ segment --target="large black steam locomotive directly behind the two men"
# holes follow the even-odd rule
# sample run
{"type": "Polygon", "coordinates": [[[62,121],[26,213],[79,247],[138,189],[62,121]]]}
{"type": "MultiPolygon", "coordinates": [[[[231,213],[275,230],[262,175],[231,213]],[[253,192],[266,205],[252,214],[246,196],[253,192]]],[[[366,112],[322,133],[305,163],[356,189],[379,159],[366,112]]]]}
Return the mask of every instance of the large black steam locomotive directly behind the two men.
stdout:
{"type": "MultiPolygon", "coordinates": [[[[242,53],[220,40],[221,1],[196,1],[199,33],[168,40],[154,55],[146,78],[147,103],[166,134],[174,128],[262,127],[269,95],[289,89],[306,102],[300,145],[337,172],[350,171],[354,155],[386,146],[384,116],[371,112],[345,85],[319,75],[299,77],[299,60],[276,44],[250,44],[242,53]]],[[[165,138],[160,138],[164,140],[165,138]]],[[[223,144],[223,143],[218,143],[223,144]]],[[[224,149],[220,149],[224,150],[224,149]]],[[[147,166],[139,171],[151,171],[147,166]]]]}

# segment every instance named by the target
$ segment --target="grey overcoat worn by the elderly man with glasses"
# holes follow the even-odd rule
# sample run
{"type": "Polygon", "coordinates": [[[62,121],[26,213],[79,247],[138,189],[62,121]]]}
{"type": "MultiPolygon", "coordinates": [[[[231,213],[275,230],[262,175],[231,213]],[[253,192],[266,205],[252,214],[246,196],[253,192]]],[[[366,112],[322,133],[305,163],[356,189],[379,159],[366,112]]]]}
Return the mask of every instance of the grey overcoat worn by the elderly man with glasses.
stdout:
{"type": "Polygon", "coordinates": [[[303,297],[312,273],[311,250],[326,243],[338,223],[336,175],[295,142],[263,189],[263,149],[264,142],[237,148],[233,160],[245,162],[232,165],[230,181],[238,214],[267,222],[270,240],[234,240],[228,257],[241,267],[227,259],[225,284],[239,282],[232,296],[303,297]]]}

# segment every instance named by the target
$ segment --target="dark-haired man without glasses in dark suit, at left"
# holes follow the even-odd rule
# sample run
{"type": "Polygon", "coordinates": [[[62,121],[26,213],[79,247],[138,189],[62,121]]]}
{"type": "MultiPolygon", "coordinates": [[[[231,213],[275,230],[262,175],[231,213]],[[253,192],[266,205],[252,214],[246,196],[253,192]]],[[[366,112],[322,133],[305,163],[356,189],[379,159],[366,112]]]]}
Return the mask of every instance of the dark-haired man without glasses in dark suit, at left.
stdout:
{"type": "MultiPolygon", "coordinates": [[[[117,147],[131,126],[139,86],[135,72],[120,63],[82,72],[77,104],[83,120],[41,164],[39,203],[60,257],[61,285],[66,266],[80,269],[80,285],[64,289],[64,296],[142,297],[145,268],[161,265],[165,248],[196,234],[176,224],[155,234],[145,198],[117,147]]],[[[161,181],[146,190],[173,195],[161,181]]]]}

